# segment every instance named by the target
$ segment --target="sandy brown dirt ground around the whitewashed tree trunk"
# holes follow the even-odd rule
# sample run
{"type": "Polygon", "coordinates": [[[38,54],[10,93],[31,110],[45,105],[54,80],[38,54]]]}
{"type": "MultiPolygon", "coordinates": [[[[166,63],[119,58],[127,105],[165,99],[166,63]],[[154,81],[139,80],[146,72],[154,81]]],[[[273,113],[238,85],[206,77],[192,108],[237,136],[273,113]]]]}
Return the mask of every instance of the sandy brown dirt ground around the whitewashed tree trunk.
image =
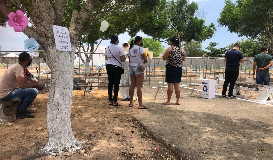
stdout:
{"type": "MultiPolygon", "coordinates": [[[[46,105],[49,88],[38,93],[32,103],[35,118],[16,120],[0,126],[0,159],[19,159],[37,152],[46,144],[46,105]]],[[[90,101],[82,90],[73,91],[71,125],[75,137],[84,142],[82,149],[46,155],[38,159],[179,159],[136,122],[141,116],[137,106],[108,105],[108,93],[90,93],[90,101]]],[[[4,112],[6,110],[4,109],[4,112]]]]}

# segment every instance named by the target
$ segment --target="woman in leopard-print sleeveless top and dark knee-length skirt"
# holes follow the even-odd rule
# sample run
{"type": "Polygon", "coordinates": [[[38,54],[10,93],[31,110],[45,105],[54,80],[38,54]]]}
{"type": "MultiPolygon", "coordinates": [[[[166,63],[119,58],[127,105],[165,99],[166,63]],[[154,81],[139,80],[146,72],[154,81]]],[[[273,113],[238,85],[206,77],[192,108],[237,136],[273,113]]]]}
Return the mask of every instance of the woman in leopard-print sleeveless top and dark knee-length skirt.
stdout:
{"type": "Polygon", "coordinates": [[[171,104],[171,95],[174,92],[176,95],[176,104],[180,105],[180,87],[179,83],[182,78],[182,61],[185,61],[185,51],[179,46],[179,40],[177,37],[172,37],[170,40],[170,45],[165,53],[163,54],[163,60],[166,62],[166,79],[165,82],[168,84],[167,96],[168,100],[163,102],[164,105],[171,104]]]}

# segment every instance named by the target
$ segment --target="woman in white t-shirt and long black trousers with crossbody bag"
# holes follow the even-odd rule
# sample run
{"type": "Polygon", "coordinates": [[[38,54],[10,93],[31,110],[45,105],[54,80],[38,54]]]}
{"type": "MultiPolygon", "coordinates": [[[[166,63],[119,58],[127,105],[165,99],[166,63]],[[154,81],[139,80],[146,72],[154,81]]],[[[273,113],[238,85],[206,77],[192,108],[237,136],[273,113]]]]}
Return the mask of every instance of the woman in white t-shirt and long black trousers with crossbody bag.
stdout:
{"type": "Polygon", "coordinates": [[[118,36],[111,36],[111,45],[105,49],[105,59],[107,60],[106,71],[108,75],[108,97],[109,105],[120,106],[118,104],[118,87],[120,84],[120,78],[122,74],[121,61],[125,61],[125,56],[122,48],[118,46],[118,36]],[[114,86],[114,97],[113,97],[114,86]]]}

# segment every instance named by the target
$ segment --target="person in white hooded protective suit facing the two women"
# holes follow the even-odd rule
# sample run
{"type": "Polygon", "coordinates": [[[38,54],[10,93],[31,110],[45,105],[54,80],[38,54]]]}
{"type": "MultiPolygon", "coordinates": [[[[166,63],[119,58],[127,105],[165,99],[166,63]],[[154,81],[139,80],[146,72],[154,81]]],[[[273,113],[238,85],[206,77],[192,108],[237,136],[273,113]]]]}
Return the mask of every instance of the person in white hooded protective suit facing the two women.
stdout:
{"type": "MultiPolygon", "coordinates": [[[[122,63],[122,67],[124,69],[124,73],[121,75],[121,79],[120,79],[120,86],[124,86],[124,85],[131,85],[130,83],[130,78],[129,77],[129,58],[128,58],[128,51],[129,51],[129,48],[130,48],[130,45],[127,41],[124,41],[122,43],[122,46],[121,48],[123,49],[123,52],[126,53],[125,54],[125,58],[126,60],[124,61],[124,63],[122,63]]],[[[122,97],[122,100],[123,101],[130,101],[130,96],[129,96],[129,89],[130,87],[120,87],[120,94],[121,94],[121,97],[122,97]]]]}

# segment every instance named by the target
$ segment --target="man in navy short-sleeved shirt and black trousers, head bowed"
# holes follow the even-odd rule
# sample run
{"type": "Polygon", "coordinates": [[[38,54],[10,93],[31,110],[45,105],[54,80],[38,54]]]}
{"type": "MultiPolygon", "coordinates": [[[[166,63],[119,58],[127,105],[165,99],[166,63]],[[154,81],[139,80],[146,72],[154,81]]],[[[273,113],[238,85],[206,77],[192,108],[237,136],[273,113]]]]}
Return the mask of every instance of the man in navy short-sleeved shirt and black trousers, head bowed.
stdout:
{"type": "Polygon", "coordinates": [[[236,96],[233,95],[233,89],[235,82],[239,76],[239,67],[240,62],[244,63],[244,57],[242,55],[242,52],[239,51],[240,46],[238,43],[235,43],[233,48],[227,52],[225,52],[225,82],[223,85],[223,91],[222,96],[226,97],[225,94],[227,92],[227,86],[229,85],[229,95],[228,98],[236,98],[236,96]]]}

